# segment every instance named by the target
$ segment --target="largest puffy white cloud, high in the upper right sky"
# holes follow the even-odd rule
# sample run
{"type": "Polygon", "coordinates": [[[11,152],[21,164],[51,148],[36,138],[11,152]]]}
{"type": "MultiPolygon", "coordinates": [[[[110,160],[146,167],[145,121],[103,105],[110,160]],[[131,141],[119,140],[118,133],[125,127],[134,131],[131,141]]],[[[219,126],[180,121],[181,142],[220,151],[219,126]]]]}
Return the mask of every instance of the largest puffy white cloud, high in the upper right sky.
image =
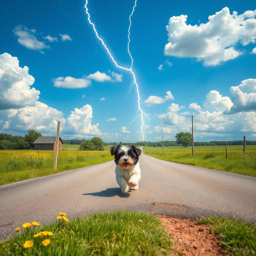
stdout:
{"type": "Polygon", "coordinates": [[[230,14],[228,7],[208,17],[208,22],[187,24],[187,15],[172,16],[166,26],[168,44],[164,54],[177,57],[194,57],[204,65],[218,65],[222,61],[237,58],[242,51],[238,44],[246,46],[256,39],[256,10],[238,15],[230,14]]]}

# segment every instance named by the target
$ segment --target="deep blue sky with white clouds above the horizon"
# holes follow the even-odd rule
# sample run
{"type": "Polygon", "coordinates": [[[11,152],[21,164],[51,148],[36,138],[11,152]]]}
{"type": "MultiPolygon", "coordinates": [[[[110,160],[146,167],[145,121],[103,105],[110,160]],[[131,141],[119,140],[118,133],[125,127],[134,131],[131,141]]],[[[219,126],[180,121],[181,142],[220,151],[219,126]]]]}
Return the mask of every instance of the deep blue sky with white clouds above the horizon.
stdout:
{"type": "MultiPolygon", "coordinates": [[[[110,60],[84,4],[2,4],[0,132],[50,136],[60,120],[62,138],[142,140],[132,76],[110,60]]],[[[99,35],[127,68],[133,6],[88,1],[99,35]]],[[[175,140],[191,131],[191,114],[196,141],[256,140],[255,8],[253,1],[137,1],[130,51],[147,114],[144,140],[175,140]]]]}

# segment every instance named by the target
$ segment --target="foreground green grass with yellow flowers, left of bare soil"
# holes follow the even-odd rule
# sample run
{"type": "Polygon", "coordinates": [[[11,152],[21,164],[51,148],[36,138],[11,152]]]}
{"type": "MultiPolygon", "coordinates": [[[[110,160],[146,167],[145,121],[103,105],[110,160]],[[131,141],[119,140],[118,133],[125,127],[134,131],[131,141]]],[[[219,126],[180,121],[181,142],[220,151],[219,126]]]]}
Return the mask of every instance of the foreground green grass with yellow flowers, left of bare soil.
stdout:
{"type": "Polygon", "coordinates": [[[0,255],[3,256],[161,256],[171,255],[171,249],[170,237],[156,216],[120,210],[28,228],[0,243],[0,255]],[[34,237],[40,231],[50,231],[54,235],[34,237]],[[41,244],[45,238],[51,241],[47,246],[41,244]],[[26,240],[32,240],[34,245],[24,248],[26,240]]]}

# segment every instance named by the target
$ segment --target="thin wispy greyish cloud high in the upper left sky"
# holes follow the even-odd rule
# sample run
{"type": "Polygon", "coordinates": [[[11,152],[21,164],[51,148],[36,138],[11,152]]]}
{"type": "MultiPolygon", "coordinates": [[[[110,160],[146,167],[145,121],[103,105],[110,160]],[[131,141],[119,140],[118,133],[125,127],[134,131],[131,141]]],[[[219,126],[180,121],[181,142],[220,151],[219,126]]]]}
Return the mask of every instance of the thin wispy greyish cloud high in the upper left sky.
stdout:
{"type": "Polygon", "coordinates": [[[26,26],[18,25],[14,28],[13,32],[18,37],[18,42],[28,49],[39,50],[41,53],[44,53],[42,49],[50,49],[50,46],[36,38],[36,31],[34,29],[28,29],[26,26]]]}

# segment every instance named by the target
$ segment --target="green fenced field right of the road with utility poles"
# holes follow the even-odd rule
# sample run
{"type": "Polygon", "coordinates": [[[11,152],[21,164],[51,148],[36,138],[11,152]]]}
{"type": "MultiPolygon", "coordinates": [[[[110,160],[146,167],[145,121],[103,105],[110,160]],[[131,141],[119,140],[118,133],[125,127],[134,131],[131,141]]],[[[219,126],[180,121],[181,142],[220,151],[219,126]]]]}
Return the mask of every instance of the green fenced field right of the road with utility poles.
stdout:
{"type": "Polygon", "coordinates": [[[225,146],[196,146],[194,157],[191,147],[165,147],[164,154],[162,150],[160,147],[143,147],[144,154],[155,158],[256,177],[255,145],[246,146],[246,155],[242,145],[227,146],[228,159],[225,146]]]}

